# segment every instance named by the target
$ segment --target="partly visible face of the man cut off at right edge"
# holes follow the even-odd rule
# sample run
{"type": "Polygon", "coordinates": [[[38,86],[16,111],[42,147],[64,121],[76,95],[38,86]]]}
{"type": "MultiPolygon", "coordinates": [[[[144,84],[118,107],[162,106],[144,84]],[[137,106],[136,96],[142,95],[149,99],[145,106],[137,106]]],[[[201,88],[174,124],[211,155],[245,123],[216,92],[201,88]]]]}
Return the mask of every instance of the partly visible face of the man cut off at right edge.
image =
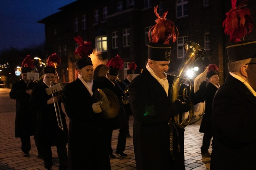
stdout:
{"type": "Polygon", "coordinates": [[[252,58],[247,65],[248,83],[256,90],[256,58],[252,58]]]}

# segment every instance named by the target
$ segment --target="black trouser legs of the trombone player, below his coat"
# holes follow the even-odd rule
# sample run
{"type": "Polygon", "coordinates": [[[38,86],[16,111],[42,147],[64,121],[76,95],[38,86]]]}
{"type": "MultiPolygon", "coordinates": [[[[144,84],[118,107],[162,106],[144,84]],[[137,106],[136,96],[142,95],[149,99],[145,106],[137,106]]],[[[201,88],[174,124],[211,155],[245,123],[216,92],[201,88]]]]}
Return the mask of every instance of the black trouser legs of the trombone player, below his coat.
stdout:
{"type": "MultiPolygon", "coordinates": [[[[59,170],[68,170],[68,153],[66,150],[66,144],[57,145],[57,153],[60,160],[59,170]]],[[[52,167],[52,146],[42,146],[42,157],[44,160],[44,167],[52,167]]]]}

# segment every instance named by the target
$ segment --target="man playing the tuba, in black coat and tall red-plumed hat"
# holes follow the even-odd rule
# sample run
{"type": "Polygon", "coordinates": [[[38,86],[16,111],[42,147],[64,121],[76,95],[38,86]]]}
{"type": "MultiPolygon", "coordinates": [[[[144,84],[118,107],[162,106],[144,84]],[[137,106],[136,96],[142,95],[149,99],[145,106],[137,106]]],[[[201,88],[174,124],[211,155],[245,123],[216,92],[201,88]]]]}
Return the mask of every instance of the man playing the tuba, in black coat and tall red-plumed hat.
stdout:
{"type": "MultiPolygon", "coordinates": [[[[169,120],[174,115],[189,111],[190,104],[181,103],[180,100],[170,104],[173,77],[164,74],[170,64],[169,40],[173,38],[175,42],[177,37],[174,29],[177,28],[165,18],[168,11],[163,14],[163,18],[157,13],[157,6],[154,12],[158,19],[149,31],[146,68],[129,85],[129,101],[134,115],[136,169],[185,170],[184,128],[177,127],[174,122],[169,124],[169,120]],[[170,153],[170,138],[173,154],[170,153]]],[[[191,93],[194,104],[204,101],[205,88],[204,81],[196,95],[191,93]]]]}

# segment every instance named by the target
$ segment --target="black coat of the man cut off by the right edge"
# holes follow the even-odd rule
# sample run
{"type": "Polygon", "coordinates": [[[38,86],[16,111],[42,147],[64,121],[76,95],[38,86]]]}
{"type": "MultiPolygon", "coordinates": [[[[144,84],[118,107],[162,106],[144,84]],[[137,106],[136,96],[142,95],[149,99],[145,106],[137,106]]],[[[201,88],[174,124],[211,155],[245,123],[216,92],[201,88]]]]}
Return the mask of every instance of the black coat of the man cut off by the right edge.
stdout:
{"type": "Polygon", "coordinates": [[[256,97],[228,74],[212,106],[211,170],[251,170],[256,160],[256,97]]]}

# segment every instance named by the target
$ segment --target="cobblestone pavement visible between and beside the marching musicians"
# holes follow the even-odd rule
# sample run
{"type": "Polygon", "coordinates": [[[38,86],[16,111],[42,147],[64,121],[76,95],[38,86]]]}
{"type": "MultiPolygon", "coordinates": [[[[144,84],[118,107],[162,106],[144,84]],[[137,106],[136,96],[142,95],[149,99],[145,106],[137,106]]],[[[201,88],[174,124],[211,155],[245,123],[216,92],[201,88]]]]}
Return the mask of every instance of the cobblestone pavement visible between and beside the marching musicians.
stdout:
{"type": "MultiPolygon", "coordinates": [[[[0,96],[9,95],[10,89],[0,89],[0,96]]],[[[66,117],[67,123],[69,122],[66,117]]],[[[23,157],[21,142],[14,136],[15,123],[15,100],[10,99],[7,106],[0,104],[0,170],[44,170],[44,162],[37,157],[37,149],[34,138],[31,136],[30,157],[23,157]],[[12,109],[6,109],[12,108],[12,109]]],[[[188,125],[185,128],[185,165],[186,170],[209,170],[210,158],[202,158],[200,147],[202,145],[203,133],[199,133],[201,121],[188,125]]],[[[130,116],[130,132],[133,130],[133,117],[130,116]]],[[[132,133],[131,133],[132,136],[132,133]]],[[[112,148],[113,153],[117,147],[118,130],[113,131],[112,148]]],[[[212,149],[210,148],[211,152],[212,149]]],[[[127,138],[127,157],[110,159],[111,170],[136,170],[133,138],[127,138]]],[[[53,170],[58,170],[58,156],[56,147],[52,147],[53,170]]]]}

